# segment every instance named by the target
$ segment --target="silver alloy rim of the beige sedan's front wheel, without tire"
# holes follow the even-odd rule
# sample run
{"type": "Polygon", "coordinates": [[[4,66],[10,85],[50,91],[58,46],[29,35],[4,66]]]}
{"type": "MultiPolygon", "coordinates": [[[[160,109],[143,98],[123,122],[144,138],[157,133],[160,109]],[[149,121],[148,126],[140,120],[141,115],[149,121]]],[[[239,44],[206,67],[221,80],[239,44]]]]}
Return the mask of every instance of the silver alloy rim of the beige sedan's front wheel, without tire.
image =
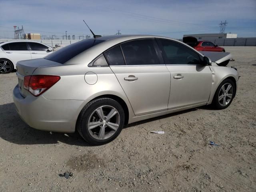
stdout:
{"type": "Polygon", "coordinates": [[[226,83],[224,84],[221,88],[220,88],[220,92],[218,95],[218,100],[219,100],[219,104],[221,106],[226,106],[230,103],[230,101],[232,100],[232,96],[233,96],[233,86],[230,83],[226,83]]]}

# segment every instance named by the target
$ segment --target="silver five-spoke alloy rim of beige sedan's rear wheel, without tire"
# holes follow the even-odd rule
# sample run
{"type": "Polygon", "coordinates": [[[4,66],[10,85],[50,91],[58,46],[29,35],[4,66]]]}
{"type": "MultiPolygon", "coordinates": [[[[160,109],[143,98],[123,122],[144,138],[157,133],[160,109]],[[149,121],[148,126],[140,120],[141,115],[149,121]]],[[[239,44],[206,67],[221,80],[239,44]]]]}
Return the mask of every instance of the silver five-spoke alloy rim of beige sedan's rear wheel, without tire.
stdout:
{"type": "Polygon", "coordinates": [[[120,125],[120,114],[112,106],[100,106],[92,112],[88,121],[88,131],[97,140],[110,138],[120,125]]]}

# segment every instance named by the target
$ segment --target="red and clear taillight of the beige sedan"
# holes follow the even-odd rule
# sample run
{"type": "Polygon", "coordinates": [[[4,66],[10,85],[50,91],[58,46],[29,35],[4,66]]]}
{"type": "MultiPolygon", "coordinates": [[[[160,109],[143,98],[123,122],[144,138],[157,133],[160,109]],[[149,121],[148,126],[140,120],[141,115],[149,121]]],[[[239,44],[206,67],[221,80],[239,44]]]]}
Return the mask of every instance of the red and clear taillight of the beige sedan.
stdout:
{"type": "Polygon", "coordinates": [[[24,77],[24,89],[28,90],[32,95],[39,96],[56,82],[60,80],[60,76],[53,75],[32,75],[24,77]]]}

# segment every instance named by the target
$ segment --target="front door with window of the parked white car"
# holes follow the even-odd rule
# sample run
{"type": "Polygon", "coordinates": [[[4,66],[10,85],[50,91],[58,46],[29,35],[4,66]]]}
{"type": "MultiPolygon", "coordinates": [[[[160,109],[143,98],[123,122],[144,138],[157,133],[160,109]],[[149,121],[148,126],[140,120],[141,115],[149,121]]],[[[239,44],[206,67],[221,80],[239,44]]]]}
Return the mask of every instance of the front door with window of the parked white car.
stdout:
{"type": "Polygon", "coordinates": [[[41,43],[28,42],[32,59],[43,58],[52,51],[48,50],[48,47],[41,43]]]}

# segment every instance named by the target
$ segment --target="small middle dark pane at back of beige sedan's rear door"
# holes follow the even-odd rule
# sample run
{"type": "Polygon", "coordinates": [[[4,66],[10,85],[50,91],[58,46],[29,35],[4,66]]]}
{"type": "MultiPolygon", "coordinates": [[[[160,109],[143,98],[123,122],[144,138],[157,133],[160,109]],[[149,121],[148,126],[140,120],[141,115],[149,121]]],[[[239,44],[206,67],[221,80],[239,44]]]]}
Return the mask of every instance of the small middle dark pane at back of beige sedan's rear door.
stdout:
{"type": "Polygon", "coordinates": [[[105,53],[109,65],[125,65],[124,58],[120,46],[116,46],[105,53]]]}

